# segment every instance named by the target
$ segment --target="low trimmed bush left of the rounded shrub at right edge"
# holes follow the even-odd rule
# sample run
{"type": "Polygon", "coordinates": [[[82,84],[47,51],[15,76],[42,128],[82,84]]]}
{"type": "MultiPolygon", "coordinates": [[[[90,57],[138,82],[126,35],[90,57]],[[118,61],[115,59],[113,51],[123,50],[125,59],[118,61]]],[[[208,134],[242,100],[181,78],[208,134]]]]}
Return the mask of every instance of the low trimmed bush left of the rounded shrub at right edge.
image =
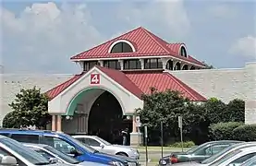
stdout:
{"type": "Polygon", "coordinates": [[[233,130],[243,123],[228,122],[210,125],[210,139],[211,140],[230,140],[234,138],[233,130]]]}

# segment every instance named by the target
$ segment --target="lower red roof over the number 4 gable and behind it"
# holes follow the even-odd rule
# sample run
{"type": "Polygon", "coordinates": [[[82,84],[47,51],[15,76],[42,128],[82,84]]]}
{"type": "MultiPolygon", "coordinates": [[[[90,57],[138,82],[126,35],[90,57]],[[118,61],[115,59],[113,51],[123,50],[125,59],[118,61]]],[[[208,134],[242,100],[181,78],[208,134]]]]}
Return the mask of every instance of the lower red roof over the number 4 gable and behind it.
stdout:
{"type": "MultiPolygon", "coordinates": [[[[108,77],[111,77],[121,85],[124,89],[127,89],[133,93],[138,98],[141,97],[141,94],[149,94],[150,88],[158,89],[159,91],[165,91],[166,89],[178,90],[184,97],[188,98],[190,101],[205,101],[206,99],[201,96],[195,90],[189,88],[182,81],[177,79],[177,77],[172,76],[169,73],[163,71],[127,71],[125,73],[105,68],[102,66],[96,66],[108,77]]],[[[67,87],[71,86],[75,81],[79,80],[84,73],[71,77],[66,82],[58,85],[54,89],[50,89],[46,92],[49,98],[52,100],[57,95],[59,95],[67,87]]]]}

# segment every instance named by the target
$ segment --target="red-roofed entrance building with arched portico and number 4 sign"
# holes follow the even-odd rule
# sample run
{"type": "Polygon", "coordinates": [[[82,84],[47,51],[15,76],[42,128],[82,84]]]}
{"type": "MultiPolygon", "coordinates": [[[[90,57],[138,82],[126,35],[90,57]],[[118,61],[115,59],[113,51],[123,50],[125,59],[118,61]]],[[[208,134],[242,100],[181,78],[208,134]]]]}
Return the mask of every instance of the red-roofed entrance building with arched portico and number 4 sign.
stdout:
{"type": "Polygon", "coordinates": [[[184,43],[168,43],[141,27],[71,61],[80,65],[81,73],[46,92],[52,130],[120,143],[120,131],[128,128],[130,143],[137,144],[135,110],[143,107],[141,95],[151,88],[178,90],[190,101],[206,100],[169,72],[205,66],[188,54],[184,43]]]}

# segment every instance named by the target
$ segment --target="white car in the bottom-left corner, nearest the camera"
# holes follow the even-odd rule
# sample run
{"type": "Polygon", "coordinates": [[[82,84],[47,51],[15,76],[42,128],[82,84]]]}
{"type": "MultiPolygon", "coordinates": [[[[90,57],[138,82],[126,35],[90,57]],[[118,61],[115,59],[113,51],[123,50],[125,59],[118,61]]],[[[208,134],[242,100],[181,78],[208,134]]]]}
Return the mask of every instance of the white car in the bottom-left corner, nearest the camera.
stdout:
{"type": "Polygon", "coordinates": [[[6,136],[0,136],[0,165],[8,166],[67,166],[65,163],[53,163],[6,136]]]}

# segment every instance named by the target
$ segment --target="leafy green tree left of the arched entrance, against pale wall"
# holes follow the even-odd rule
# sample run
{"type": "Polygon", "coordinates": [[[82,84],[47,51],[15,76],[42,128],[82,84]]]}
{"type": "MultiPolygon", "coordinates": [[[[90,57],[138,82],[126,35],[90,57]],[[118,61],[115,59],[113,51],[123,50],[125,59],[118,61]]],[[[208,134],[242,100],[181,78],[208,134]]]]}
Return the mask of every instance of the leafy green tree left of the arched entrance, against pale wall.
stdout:
{"type": "Polygon", "coordinates": [[[48,97],[41,89],[20,89],[15,100],[9,104],[13,110],[12,120],[15,125],[45,127],[50,121],[48,114],[48,97]]]}

